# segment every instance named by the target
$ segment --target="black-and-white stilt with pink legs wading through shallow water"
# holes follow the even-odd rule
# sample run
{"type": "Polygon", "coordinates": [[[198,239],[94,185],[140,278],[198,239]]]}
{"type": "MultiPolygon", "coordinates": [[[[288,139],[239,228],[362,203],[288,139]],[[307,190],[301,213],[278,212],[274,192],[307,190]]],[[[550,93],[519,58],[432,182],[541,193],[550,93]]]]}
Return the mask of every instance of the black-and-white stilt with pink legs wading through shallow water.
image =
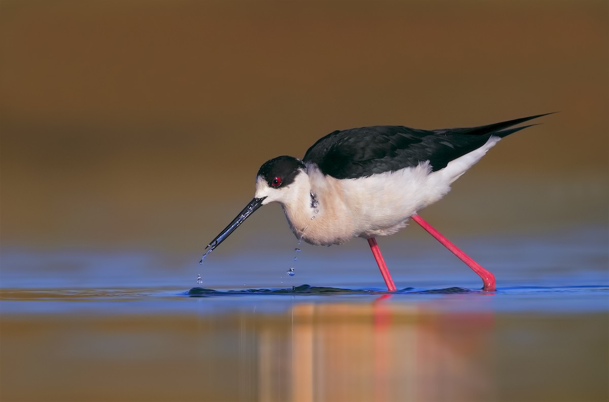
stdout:
{"type": "Polygon", "coordinates": [[[295,236],[310,244],[368,239],[389,291],[396,287],[375,237],[396,233],[410,218],[473,269],[482,289],[494,291],[495,276],[417,212],[445,196],[501,138],[530,125],[510,127],[547,114],[464,129],[378,125],[329,133],[301,160],[283,156],[262,164],[254,199],[207,245],[203,258],[260,206],[278,202],[295,236]]]}

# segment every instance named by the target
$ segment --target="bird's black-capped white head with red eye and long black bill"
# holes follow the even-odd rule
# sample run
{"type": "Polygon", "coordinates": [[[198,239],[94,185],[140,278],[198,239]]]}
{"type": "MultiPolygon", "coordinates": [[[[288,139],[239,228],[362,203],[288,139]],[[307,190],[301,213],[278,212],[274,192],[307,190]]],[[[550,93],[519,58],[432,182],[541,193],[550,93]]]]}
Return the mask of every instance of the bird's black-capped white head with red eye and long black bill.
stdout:
{"type": "MultiPolygon", "coordinates": [[[[203,255],[203,258],[218,247],[248,216],[262,205],[270,202],[287,203],[292,197],[297,196],[297,192],[290,192],[289,188],[290,185],[301,182],[297,179],[301,175],[306,175],[305,170],[305,164],[294,157],[277,157],[262,164],[258,170],[258,175],[256,175],[254,199],[205,247],[207,252],[203,255]]],[[[203,258],[201,258],[200,263],[203,263],[203,258]]]]}

